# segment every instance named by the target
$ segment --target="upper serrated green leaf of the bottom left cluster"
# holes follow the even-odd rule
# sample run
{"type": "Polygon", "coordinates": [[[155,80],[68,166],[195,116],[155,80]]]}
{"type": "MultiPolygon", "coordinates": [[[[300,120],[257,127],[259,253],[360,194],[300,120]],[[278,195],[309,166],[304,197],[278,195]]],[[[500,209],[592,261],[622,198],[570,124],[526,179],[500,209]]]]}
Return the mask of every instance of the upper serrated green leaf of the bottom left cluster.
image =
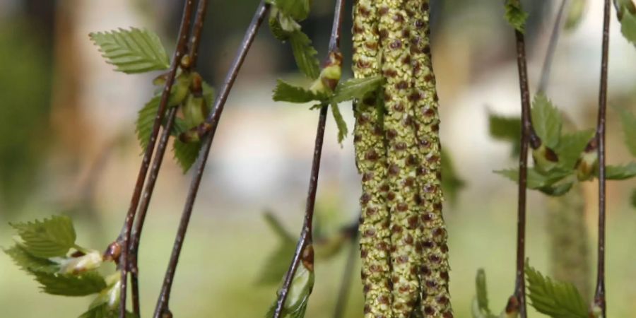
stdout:
{"type": "Polygon", "coordinates": [[[10,224],[18,231],[24,249],[34,257],[62,257],[75,246],[75,229],[68,216],[10,224]]]}

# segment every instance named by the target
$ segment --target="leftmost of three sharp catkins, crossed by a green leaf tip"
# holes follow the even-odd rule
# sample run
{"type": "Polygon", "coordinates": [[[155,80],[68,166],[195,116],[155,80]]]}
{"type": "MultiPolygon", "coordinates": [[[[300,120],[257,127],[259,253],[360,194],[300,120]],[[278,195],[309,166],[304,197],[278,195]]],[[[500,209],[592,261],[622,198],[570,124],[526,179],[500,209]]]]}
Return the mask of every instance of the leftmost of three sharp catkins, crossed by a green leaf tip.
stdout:
{"type": "MultiPolygon", "coordinates": [[[[379,34],[375,0],[359,0],[353,8],[353,75],[379,74],[379,34]]],[[[391,264],[387,209],[387,151],[379,121],[377,92],[355,102],[353,143],[358,171],[363,175],[360,196],[360,256],[366,318],[390,318],[391,264]]]]}

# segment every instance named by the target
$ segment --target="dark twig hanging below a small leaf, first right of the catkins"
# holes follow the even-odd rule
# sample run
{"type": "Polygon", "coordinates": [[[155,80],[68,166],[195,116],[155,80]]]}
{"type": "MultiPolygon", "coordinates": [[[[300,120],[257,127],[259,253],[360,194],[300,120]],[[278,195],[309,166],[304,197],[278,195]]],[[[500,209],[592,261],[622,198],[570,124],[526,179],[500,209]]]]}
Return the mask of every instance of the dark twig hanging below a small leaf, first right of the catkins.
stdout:
{"type": "MultiPolygon", "coordinates": [[[[530,93],[526,67],[526,44],[524,34],[514,31],[517,39],[517,67],[519,69],[519,89],[522,100],[521,151],[519,151],[519,202],[517,205],[517,271],[514,282],[514,296],[519,303],[519,315],[526,318],[526,281],[524,265],[526,259],[526,183],[528,167],[528,146],[534,132],[530,118],[530,93]]],[[[540,142],[540,141],[539,141],[540,142]]]]}

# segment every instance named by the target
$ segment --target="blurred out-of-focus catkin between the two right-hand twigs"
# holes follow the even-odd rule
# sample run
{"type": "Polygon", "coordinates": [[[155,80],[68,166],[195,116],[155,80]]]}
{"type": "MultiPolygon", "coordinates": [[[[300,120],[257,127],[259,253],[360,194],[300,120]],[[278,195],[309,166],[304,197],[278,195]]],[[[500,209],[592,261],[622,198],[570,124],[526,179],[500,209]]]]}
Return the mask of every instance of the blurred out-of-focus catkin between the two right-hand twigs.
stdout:
{"type": "Polygon", "coordinates": [[[583,189],[575,184],[567,194],[549,197],[546,204],[552,276],[573,283],[587,298],[591,295],[591,269],[583,189]]]}

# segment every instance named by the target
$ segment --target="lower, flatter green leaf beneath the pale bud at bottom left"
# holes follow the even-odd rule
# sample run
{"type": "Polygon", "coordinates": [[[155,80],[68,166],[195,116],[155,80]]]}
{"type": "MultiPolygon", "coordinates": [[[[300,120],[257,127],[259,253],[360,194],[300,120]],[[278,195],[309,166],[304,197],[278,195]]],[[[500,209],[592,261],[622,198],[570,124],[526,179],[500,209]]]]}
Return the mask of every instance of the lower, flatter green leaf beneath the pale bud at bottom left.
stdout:
{"type": "Polygon", "coordinates": [[[106,288],[104,278],[97,271],[79,275],[32,272],[42,291],[51,295],[86,296],[100,293],[106,288]]]}

